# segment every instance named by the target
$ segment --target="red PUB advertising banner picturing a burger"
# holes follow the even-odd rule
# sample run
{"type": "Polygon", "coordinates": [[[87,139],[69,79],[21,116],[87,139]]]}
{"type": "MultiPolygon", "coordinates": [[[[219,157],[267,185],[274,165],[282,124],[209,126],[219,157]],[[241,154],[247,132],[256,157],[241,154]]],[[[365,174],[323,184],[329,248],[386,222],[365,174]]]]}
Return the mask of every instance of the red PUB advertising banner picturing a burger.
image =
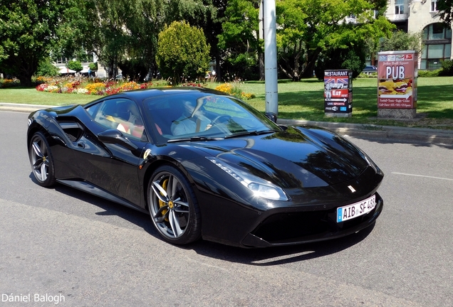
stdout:
{"type": "Polygon", "coordinates": [[[378,53],[377,108],[415,109],[417,107],[417,63],[415,51],[378,53]]]}

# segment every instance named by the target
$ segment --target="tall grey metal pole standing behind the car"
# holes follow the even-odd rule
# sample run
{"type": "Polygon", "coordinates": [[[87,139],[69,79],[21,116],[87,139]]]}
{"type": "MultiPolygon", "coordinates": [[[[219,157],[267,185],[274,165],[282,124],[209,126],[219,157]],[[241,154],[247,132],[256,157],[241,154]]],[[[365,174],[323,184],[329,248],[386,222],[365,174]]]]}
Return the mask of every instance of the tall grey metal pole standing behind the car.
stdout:
{"type": "Polygon", "coordinates": [[[263,0],[266,112],[278,114],[275,0],[263,0]]]}

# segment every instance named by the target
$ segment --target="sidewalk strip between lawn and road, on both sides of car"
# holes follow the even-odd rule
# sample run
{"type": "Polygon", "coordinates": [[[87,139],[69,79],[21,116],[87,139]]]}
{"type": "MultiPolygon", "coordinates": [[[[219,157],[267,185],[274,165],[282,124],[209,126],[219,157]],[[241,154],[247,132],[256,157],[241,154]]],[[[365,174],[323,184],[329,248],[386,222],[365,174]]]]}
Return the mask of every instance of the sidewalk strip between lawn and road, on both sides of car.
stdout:
{"type": "MultiPolygon", "coordinates": [[[[36,104],[11,104],[0,102],[0,111],[30,113],[37,109],[51,106],[36,104]]],[[[278,124],[303,124],[322,126],[340,135],[348,135],[363,139],[380,139],[386,141],[417,142],[428,144],[453,145],[453,130],[406,128],[399,126],[379,126],[367,124],[347,124],[333,122],[313,122],[300,119],[278,119],[278,124]]]]}

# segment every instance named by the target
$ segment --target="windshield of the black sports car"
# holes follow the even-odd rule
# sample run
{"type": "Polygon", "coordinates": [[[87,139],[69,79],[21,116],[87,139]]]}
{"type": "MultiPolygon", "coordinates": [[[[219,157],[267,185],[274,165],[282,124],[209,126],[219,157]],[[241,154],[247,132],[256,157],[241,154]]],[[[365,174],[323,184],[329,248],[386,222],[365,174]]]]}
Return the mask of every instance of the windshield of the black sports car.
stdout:
{"type": "Polygon", "coordinates": [[[184,92],[145,99],[145,110],[160,141],[223,139],[279,131],[260,112],[239,99],[184,92]]]}

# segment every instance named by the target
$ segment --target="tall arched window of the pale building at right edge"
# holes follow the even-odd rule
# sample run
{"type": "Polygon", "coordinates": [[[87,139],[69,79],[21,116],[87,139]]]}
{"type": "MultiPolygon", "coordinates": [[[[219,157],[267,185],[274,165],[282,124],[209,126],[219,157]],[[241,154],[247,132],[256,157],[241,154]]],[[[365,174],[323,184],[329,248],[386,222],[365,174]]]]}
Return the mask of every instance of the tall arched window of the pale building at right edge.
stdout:
{"type": "Polygon", "coordinates": [[[432,23],[423,29],[423,43],[420,69],[436,70],[443,60],[452,56],[452,29],[443,23],[432,23]]]}

